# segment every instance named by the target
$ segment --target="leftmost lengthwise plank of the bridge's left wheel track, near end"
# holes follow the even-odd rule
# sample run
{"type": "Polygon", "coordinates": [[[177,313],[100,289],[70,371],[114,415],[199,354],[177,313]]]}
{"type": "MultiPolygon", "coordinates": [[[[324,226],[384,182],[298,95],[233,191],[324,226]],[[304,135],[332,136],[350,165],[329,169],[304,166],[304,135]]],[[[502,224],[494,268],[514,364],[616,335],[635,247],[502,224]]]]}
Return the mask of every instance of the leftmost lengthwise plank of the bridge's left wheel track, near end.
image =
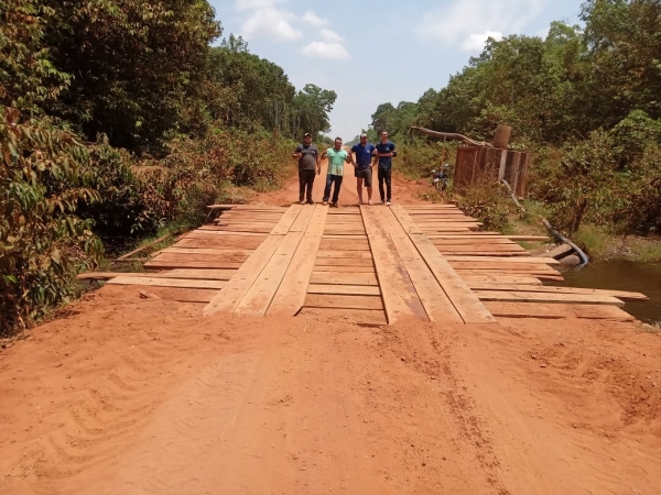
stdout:
{"type": "Polygon", "coordinates": [[[267,240],[241,265],[234,277],[204,308],[204,315],[215,315],[219,311],[231,314],[241,299],[248,294],[264,266],[284,240],[283,235],[269,235],[267,240]]]}

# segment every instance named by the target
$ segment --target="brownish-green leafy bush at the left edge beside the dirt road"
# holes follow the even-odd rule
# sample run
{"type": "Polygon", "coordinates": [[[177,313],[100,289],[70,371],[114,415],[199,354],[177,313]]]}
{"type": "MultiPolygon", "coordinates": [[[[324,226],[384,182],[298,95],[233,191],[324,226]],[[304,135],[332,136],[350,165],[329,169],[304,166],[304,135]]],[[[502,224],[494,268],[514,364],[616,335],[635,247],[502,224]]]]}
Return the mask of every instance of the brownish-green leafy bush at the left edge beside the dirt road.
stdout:
{"type": "Polygon", "coordinates": [[[75,216],[99,200],[76,136],[0,109],[0,333],[26,327],[66,301],[72,280],[102,246],[75,216]]]}

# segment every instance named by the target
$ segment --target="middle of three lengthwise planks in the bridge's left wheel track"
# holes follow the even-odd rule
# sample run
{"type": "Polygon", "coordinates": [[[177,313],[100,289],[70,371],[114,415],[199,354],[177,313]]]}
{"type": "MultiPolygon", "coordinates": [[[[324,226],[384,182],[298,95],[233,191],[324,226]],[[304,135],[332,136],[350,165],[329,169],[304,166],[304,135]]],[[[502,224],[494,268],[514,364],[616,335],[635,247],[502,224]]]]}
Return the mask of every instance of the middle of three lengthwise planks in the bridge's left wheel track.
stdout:
{"type": "Polygon", "coordinates": [[[293,230],[288,232],[259,278],[237,305],[235,315],[264,316],[267,314],[302,239],[303,232],[293,230]]]}

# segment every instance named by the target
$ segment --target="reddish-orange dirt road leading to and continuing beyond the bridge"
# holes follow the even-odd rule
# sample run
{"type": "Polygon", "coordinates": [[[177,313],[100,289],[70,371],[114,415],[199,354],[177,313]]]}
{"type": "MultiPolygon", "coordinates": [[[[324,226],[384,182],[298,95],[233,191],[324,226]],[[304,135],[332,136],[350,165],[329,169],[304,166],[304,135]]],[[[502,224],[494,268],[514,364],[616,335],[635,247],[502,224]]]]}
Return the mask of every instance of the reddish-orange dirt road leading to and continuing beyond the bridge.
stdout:
{"type": "Polygon", "coordinates": [[[0,493],[661,493],[661,338],[635,324],[203,306],[107,286],[0,350],[0,493]]]}

